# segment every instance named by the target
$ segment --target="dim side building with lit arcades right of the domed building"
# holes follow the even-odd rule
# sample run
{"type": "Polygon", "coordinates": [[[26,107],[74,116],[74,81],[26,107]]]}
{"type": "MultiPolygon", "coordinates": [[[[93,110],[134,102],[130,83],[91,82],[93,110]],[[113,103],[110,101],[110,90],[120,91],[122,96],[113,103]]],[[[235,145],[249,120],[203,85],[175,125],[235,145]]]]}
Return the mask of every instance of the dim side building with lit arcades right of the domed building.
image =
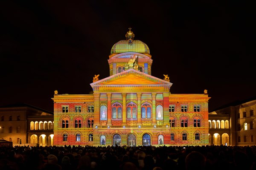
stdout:
{"type": "Polygon", "coordinates": [[[224,105],[209,113],[209,144],[256,145],[256,97],[224,105]]]}

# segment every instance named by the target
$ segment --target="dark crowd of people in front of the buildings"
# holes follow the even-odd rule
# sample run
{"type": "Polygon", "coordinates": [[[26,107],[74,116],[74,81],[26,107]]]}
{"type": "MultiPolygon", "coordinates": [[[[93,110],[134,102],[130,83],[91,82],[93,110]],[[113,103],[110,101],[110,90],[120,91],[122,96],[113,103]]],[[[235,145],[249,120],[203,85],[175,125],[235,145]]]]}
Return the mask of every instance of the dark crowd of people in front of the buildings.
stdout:
{"type": "Polygon", "coordinates": [[[0,170],[256,170],[256,146],[0,147],[0,170]]]}

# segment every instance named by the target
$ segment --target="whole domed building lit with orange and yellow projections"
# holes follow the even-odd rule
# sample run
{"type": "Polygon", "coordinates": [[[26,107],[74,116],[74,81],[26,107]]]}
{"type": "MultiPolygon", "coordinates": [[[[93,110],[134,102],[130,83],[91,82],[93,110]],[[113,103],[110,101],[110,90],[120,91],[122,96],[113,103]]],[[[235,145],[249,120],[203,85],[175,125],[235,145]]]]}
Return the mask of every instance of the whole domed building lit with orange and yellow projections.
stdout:
{"type": "Polygon", "coordinates": [[[111,48],[110,76],[93,77],[92,94],[55,91],[54,145],[209,144],[207,90],[171,94],[168,75],[151,75],[148,46],[131,28],[125,37],[111,48]]]}

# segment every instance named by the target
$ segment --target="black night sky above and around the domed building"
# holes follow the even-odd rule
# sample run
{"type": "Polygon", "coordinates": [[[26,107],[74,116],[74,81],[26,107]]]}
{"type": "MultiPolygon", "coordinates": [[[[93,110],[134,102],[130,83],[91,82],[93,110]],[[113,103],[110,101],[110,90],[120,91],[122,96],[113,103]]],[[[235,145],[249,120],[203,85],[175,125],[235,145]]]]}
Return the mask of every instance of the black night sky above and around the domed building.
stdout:
{"type": "Polygon", "coordinates": [[[54,91],[88,94],[109,76],[111,47],[131,27],[172,94],[203,94],[209,111],[256,96],[255,9],[226,0],[0,2],[0,105],[53,111],[54,91]]]}

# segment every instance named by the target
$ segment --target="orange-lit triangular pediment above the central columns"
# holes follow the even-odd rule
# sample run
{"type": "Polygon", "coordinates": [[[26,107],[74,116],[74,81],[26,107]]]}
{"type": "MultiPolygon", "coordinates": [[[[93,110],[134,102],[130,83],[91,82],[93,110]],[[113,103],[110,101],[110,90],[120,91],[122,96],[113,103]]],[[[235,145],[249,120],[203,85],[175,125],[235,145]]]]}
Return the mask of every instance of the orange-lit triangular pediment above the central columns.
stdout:
{"type": "Polygon", "coordinates": [[[169,92],[172,83],[129,69],[90,84],[94,92],[169,92]]]}

